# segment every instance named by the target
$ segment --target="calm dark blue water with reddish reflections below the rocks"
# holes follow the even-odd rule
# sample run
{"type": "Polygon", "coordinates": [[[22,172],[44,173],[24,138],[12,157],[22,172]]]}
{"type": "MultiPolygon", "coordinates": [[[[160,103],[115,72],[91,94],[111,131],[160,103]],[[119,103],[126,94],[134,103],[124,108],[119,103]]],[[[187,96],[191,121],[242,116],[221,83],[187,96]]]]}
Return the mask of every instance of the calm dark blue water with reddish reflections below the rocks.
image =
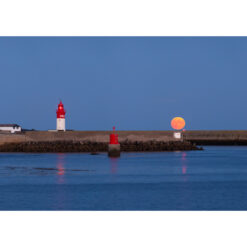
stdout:
{"type": "Polygon", "coordinates": [[[0,210],[247,210],[247,147],[2,153],[0,210]]]}

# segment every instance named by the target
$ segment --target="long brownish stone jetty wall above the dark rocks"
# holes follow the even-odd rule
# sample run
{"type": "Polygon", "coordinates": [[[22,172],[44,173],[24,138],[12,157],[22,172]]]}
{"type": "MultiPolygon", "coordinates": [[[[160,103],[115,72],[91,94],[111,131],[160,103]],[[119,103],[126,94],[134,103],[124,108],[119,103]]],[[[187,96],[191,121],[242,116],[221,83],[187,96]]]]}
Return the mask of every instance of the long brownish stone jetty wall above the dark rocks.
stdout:
{"type": "MultiPolygon", "coordinates": [[[[111,131],[26,131],[10,134],[0,132],[0,145],[4,143],[23,142],[109,142],[111,131]]],[[[117,131],[120,142],[171,142],[177,141],[173,137],[174,131],[117,131]]],[[[247,131],[245,130],[193,130],[183,132],[183,139],[197,145],[247,145],[247,131]]]]}

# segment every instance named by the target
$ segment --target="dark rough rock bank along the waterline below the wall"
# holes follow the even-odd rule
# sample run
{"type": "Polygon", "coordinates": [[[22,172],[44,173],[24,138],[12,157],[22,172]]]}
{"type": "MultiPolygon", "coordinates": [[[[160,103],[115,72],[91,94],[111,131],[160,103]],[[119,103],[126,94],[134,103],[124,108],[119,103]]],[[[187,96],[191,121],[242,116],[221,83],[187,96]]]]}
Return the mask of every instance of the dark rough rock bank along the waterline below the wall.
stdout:
{"type": "MultiPolygon", "coordinates": [[[[203,150],[195,144],[184,141],[124,141],[121,142],[122,152],[163,152],[163,151],[190,151],[203,150]]],[[[23,152],[23,153],[92,153],[107,152],[108,143],[105,142],[22,142],[5,143],[0,145],[0,152],[23,152]]]]}

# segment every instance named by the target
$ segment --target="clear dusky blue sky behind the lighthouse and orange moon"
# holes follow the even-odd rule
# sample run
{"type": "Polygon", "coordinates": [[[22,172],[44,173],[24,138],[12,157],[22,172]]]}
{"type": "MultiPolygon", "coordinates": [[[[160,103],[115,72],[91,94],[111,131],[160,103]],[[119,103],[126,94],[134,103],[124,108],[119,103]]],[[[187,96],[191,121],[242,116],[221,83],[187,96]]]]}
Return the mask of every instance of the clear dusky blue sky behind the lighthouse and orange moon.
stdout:
{"type": "Polygon", "coordinates": [[[0,122],[54,129],[247,129],[247,38],[1,37],[0,122]]]}

